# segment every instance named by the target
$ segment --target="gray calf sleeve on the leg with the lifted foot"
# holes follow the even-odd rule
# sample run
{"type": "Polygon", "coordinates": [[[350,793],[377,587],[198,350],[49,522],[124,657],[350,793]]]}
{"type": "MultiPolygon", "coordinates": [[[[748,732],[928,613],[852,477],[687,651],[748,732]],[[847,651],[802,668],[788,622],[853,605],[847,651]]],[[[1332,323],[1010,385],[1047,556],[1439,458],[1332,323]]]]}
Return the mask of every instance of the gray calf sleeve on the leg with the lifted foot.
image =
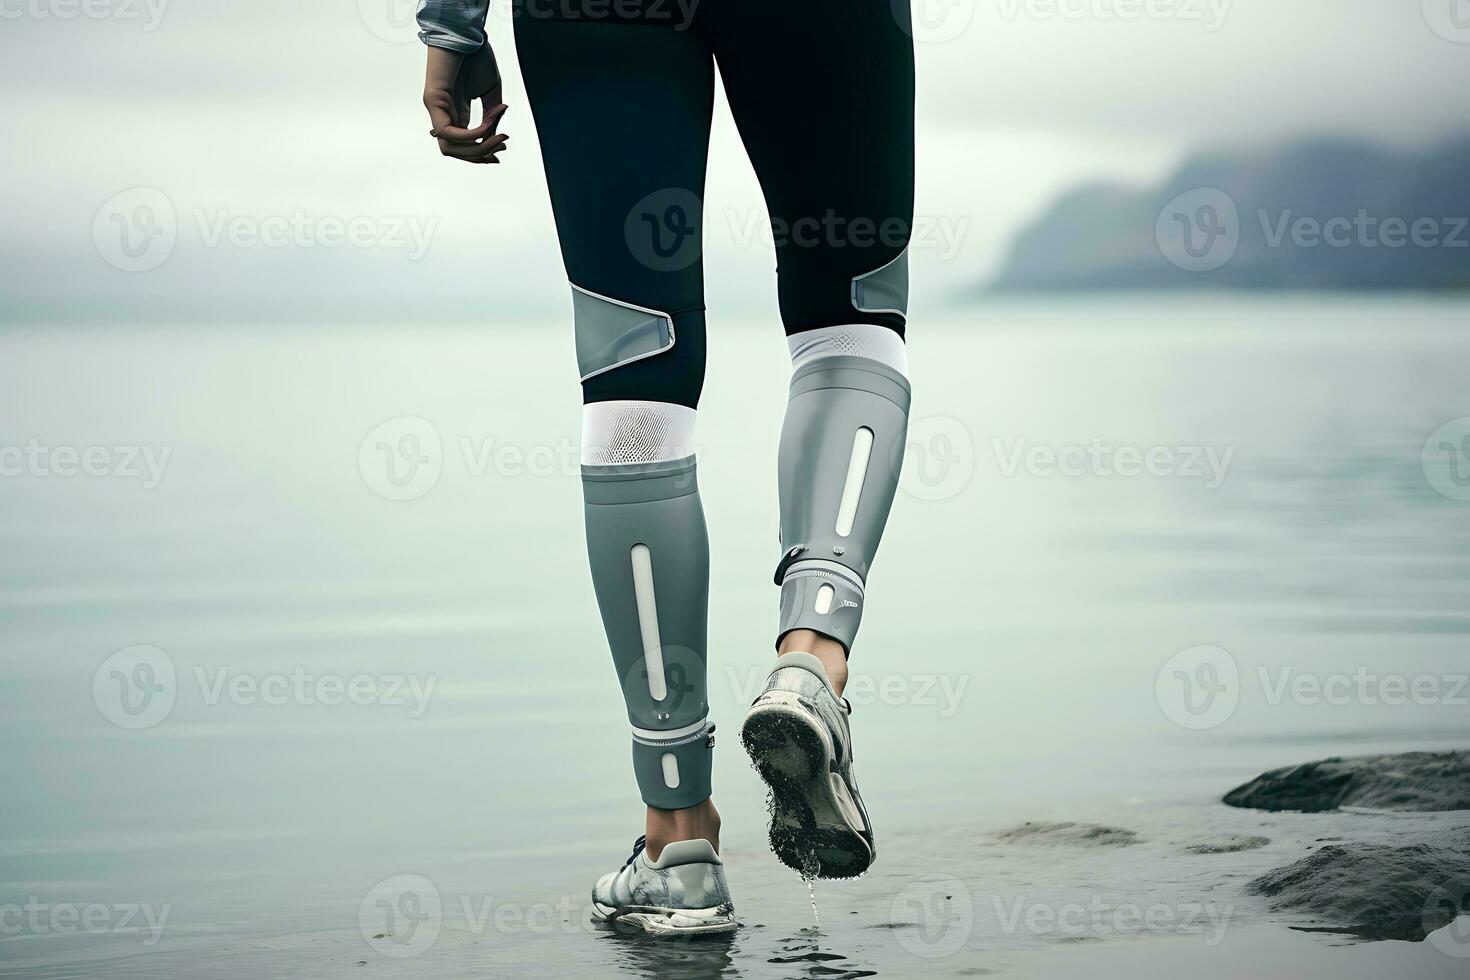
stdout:
{"type": "Polygon", "coordinates": [[[908,381],[869,357],[820,357],[791,378],[781,430],[781,638],[851,649],[908,430],[908,381]]]}

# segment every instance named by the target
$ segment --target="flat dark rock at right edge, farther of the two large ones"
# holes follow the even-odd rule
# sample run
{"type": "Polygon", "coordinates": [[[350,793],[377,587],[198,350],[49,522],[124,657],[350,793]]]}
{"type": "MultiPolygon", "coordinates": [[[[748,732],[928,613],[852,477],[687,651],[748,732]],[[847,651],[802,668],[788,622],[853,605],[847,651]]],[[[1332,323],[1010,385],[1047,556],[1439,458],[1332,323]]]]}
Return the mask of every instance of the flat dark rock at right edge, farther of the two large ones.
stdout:
{"type": "Polygon", "coordinates": [[[1225,795],[1232,807],[1323,813],[1470,810],[1470,752],[1405,752],[1329,758],[1277,768],[1225,795]]]}

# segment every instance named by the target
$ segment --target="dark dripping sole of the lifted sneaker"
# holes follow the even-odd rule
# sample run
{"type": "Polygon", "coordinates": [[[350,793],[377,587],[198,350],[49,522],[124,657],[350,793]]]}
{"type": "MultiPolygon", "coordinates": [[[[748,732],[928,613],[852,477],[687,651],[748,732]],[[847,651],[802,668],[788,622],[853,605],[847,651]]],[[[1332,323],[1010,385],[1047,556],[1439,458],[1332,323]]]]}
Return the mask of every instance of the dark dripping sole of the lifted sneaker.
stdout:
{"type": "Polygon", "coordinates": [[[861,807],[832,771],[826,726],[797,695],[764,695],[745,716],[741,743],[770,788],[770,849],[782,864],[819,879],[853,879],[873,864],[861,807]]]}

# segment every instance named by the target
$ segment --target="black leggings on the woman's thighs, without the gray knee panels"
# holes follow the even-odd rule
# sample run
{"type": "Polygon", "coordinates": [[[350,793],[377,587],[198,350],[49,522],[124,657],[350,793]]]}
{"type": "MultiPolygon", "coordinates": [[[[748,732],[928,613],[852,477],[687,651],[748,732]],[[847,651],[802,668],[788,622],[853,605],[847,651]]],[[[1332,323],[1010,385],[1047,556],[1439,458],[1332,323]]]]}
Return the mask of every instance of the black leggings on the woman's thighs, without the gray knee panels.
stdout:
{"type": "Polygon", "coordinates": [[[516,48],[570,281],[673,314],[664,354],[584,382],[594,401],[695,407],[714,66],[760,178],[786,334],[876,323],[853,279],[908,242],[907,0],[517,0],[516,48]],[[692,15],[688,13],[692,9],[692,15]]]}

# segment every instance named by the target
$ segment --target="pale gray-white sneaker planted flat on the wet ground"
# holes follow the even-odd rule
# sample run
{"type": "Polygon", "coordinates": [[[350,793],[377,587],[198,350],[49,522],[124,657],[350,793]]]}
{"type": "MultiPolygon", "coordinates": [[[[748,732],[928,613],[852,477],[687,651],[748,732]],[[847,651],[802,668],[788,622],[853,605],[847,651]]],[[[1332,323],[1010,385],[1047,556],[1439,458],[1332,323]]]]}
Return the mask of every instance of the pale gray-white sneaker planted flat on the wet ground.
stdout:
{"type": "Polygon", "coordinates": [[[592,921],[666,936],[735,932],[735,904],[725,883],[725,862],[709,840],[676,840],[657,861],[634,843],[622,870],[592,887],[592,921]]]}

